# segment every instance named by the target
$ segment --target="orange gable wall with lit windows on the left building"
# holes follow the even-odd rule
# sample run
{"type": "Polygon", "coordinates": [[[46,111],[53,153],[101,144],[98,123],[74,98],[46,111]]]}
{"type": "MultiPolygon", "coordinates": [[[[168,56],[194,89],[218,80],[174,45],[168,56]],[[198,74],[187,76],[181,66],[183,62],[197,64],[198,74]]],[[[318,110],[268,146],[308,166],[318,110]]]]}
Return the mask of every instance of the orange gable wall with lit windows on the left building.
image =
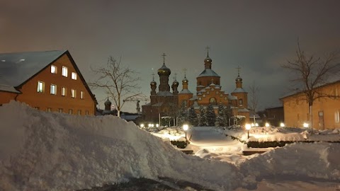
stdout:
{"type": "Polygon", "coordinates": [[[71,79],[72,72],[77,73],[77,71],[67,54],[57,59],[52,65],[57,67],[57,74],[52,74],[51,66],[47,66],[19,89],[22,94],[17,97],[17,100],[39,110],[52,112],[62,110],[65,113],[72,110],[74,115],[95,115],[96,103],[86,90],[79,74],[77,74],[77,80],[71,79]],[[62,76],[62,66],[67,67],[67,77],[62,76]],[[38,81],[44,84],[42,93],[38,92],[38,81]],[[55,95],[50,93],[51,84],[56,85],[55,95]],[[62,96],[62,87],[66,88],[65,96],[62,96]],[[71,96],[72,89],[76,91],[75,98],[71,96]],[[84,93],[83,98],[81,98],[81,91],[84,93]]]}

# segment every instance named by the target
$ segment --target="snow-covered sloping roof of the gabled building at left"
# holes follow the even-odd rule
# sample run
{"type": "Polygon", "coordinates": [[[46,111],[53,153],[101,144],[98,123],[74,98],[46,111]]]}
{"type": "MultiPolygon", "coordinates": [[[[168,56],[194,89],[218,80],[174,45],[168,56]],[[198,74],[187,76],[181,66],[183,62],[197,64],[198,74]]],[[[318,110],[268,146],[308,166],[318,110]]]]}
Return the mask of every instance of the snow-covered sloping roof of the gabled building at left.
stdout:
{"type": "Polygon", "coordinates": [[[0,75],[11,86],[19,86],[58,59],[65,50],[0,54],[0,75]]]}

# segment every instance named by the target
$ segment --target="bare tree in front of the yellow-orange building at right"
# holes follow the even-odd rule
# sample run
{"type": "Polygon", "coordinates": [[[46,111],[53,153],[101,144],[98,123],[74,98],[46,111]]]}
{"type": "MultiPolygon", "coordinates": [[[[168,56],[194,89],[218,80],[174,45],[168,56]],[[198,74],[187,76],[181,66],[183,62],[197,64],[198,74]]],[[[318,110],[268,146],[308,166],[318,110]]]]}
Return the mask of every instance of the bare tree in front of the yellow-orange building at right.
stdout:
{"type": "Polygon", "coordinates": [[[293,90],[302,93],[309,106],[310,127],[313,128],[312,106],[317,98],[336,98],[331,93],[319,91],[317,87],[330,83],[330,77],[339,75],[340,63],[339,52],[330,52],[324,58],[307,55],[300,49],[297,40],[297,51],[295,59],[288,60],[281,66],[294,74],[290,79],[293,90]]]}

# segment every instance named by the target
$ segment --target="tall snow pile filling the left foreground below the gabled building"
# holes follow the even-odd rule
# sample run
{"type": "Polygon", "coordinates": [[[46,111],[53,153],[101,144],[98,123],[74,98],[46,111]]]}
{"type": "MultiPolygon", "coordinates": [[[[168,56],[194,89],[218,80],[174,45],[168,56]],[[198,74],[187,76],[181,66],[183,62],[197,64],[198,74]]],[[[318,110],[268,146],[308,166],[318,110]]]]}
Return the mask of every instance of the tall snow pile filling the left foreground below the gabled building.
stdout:
{"type": "Polygon", "coordinates": [[[169,177],[232,190],[243,175],[206,161],[114,116],[41,112],[11,102],[0,107],[0,190],[79,190],[128,178],[169,177]]]}

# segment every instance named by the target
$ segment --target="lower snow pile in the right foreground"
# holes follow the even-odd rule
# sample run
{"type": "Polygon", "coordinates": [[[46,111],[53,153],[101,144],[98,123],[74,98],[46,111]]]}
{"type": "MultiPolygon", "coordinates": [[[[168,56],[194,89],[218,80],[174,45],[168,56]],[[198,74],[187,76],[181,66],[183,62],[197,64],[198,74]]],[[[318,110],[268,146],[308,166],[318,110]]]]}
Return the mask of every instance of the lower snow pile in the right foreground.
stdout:
{"type": "Polygon", "coordinates": [[[241,164],[242,173],[261,178],[289,175],[340,181],[339,144],[289,144],[241,164]]]}

